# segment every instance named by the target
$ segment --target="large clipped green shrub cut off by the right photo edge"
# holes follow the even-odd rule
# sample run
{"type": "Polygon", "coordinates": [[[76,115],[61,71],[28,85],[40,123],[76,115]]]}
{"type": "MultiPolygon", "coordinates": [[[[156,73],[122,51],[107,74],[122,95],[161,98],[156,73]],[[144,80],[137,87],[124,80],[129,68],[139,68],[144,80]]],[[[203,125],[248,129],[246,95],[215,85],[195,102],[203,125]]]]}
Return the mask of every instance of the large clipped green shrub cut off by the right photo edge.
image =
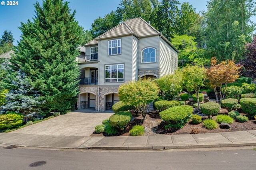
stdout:
{"type": "Polygon", "coordinates": [[[256,115],[256,98],[242,98],[240,105],[244,113],[248,113],[250,118],[256,115]]]}

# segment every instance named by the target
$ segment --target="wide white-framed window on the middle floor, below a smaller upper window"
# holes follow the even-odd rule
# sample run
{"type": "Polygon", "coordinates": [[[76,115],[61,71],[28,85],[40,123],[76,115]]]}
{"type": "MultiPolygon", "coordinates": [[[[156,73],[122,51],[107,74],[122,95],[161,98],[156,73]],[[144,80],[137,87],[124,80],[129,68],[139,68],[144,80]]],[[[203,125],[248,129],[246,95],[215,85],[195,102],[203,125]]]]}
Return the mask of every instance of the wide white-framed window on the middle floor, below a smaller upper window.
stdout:
{"type": "Polygon", "coordinates": [[[105,65],[105,82],[124,82],[124,64],[105,65]]]}

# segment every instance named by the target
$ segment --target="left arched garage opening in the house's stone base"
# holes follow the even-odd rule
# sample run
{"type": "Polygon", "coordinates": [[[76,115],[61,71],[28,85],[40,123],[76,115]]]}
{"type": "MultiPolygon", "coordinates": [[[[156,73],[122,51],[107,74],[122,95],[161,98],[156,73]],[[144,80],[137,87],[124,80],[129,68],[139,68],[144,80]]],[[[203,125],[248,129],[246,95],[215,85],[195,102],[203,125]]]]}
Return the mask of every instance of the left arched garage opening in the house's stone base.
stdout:
{"type": "Polygon", "coordinates": [[[96,107],[96,95],[93,93],[82,93],[80,94],[80,108],[88,109],[96,107]]]}

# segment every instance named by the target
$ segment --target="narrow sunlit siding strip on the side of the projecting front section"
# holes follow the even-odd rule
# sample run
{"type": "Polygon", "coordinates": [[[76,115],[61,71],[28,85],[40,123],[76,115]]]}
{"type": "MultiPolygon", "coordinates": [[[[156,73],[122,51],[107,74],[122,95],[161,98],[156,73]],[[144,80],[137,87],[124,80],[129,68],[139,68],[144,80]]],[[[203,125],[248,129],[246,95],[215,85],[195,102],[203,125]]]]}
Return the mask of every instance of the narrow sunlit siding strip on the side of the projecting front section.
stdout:
{"type": "Polygon", "coordinates": [[[138,38],[132,36],[132,81],[138,79],[138,38]]]}

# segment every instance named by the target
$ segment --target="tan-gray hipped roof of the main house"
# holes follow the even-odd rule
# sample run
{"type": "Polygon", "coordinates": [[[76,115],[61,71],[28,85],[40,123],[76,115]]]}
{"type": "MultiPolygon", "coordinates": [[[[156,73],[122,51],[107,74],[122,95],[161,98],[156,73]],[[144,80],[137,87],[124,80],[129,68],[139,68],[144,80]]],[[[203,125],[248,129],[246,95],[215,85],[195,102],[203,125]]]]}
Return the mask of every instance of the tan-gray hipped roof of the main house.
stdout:
{"type": "Polygon", "coordinates": [[[133,18],[130,20],[126,20],[117,26],[113,27],[112,29],[108,30],[107,32],[101,34],[97,38],[94,38],[92,41],[85,44],[87,45],[93,45],[97,44],[98,40],[107,39],[107,38],[114,38],[114,37],[120,37],[120,36],[128,36],[128,35],[134,35],[137,38],[142,37],[148,37],[148,36],[161,36],[174,50],[177,52],[178,49],[176,49],[168,40],[165,38],[158,30],[156,30],[154,27],[152,27],[148,22],[143,20],[142,18],[133,18]]]}

